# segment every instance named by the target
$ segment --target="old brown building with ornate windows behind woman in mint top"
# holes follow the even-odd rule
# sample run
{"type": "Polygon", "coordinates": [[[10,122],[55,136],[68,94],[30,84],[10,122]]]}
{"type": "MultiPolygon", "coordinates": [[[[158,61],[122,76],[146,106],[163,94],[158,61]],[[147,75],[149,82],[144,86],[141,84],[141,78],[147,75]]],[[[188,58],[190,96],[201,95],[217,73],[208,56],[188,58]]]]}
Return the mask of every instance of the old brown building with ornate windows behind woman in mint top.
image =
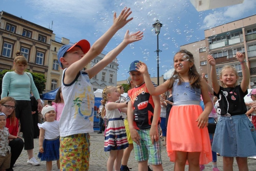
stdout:
{"type": "Polygon", "coordinates": [[[47,76],[53,31],[21,17],[0,13],[0,69],[11,69],[19,50],[28,61],[27,69],[47,76]]]}

